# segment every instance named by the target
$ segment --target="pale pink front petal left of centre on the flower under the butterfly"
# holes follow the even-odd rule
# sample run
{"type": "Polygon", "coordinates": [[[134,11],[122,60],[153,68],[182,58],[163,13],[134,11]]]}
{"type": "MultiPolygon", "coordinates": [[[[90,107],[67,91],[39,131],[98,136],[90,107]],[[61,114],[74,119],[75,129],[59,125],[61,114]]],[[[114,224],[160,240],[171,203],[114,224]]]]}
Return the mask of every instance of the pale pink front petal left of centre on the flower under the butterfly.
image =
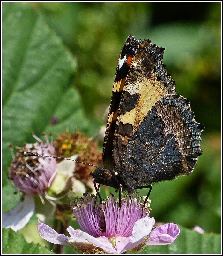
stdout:
{"type": "Polygon", "coordinates": [[[71,235],[71,238],[68,239],[69,243],[83,243],[83,244],[93,244],[96,247],[100,247],[106,252],[109,253],[115,253],[116,250],[114,247],[112,247],[112,244],[105,236],[100,236],[98,238],[95,238],[86,232],[83,232],[79,229],[73,229],[71,226],[67,228],[67,231],[71,235]]]}

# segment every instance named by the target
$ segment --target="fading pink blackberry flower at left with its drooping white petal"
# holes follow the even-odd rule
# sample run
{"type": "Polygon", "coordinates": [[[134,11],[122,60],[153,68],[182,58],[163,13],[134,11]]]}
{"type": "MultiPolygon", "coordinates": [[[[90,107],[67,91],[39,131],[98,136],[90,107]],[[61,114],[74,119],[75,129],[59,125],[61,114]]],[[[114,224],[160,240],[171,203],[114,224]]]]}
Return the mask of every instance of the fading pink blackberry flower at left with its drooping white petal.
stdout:
{"type": "MultiPolygon", "coordinates": [[[[4,228],[18,231],[29,222],[35,211],[34,196],[38,195],[44,204],[43,195],[47,197],[47,189],[54,181],[57,173],[55,158],[25,156],[23,152],[32,152],[40,155],[54,155],[54,147],[45,136],[44,143],[38,137],[34,144],[25,144],[19,148],[8,170],[8,179],[11,186],[24,193],[22,200],[10,211],[4,212],[2,222],[4,228]]],[[[49,209],[48,209],[49,211],[49,209]]]]}

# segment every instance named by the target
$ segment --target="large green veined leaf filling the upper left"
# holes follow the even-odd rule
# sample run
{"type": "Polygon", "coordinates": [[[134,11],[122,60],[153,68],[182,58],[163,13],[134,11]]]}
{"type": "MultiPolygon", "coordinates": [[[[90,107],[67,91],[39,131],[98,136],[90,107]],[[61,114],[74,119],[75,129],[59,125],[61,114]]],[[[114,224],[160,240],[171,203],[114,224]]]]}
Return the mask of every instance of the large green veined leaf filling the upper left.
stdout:
{"type": "Polygon", "coordinates": [[[76,60],[30,5],[3,3],[3,35],[4,185],[9,143],[32,143],[32,132],[86,131],[87,121],[79,93],[71,88],[76,60]]]}

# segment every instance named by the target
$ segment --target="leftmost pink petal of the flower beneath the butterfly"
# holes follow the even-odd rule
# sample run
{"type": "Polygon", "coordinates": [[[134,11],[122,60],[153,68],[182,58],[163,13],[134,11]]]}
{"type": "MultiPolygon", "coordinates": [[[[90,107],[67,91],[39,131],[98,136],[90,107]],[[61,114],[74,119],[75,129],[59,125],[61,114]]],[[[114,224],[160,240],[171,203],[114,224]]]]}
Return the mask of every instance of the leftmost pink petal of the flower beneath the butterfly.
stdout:
{"type": "Polygon", "coordinates": [[[53,228],[50,228],[48,225],[43,224],[40,221],[38,222],[38,231],[40,237],[44,238],[50,243],[70,245],[68,242],[66,242],[66,239],[70,239],[70,237],[56,233],[53,228]]]}

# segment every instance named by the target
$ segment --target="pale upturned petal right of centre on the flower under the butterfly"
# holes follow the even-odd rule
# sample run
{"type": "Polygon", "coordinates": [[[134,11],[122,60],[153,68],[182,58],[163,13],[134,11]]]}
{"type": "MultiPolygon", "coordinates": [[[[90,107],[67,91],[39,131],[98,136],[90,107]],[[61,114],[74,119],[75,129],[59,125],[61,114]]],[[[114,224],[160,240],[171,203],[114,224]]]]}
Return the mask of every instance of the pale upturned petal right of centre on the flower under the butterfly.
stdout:
{"type": "Polygon", "coordinates": [[[117,253],[123,253],[137,247],[143,242],[145,236],[148,236],[155,224],[154,218],[148,215],[134,224],[132,235],[130,237],[117,237],[115,249],[117,253]]]}

